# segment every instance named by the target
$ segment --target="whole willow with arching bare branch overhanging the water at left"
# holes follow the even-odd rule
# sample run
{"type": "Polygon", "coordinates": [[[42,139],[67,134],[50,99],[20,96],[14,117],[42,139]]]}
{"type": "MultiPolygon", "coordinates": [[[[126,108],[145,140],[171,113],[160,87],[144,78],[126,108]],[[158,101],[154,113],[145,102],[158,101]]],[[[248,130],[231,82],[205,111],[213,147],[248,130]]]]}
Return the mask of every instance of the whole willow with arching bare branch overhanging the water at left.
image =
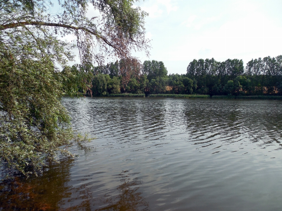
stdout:
{"type": "Polygon", "coordinates": [[[29,175],[58,152],[70,155],[61,147],[74,138],[61,98],[90,90],[92,64],[114,57],[125,67],[140,66],[131,52],[148,54],[147,13],[134,2],[59,0],[54,6],[47,0],[0,0],[2,170],[29,175]],[[97,17],[89,17],[90,6],[98,11],[97,17]],[[74,42],[59,39],[70,34],[74,42]],[[74,47],[80,61],[69,67],[74,47]]]}

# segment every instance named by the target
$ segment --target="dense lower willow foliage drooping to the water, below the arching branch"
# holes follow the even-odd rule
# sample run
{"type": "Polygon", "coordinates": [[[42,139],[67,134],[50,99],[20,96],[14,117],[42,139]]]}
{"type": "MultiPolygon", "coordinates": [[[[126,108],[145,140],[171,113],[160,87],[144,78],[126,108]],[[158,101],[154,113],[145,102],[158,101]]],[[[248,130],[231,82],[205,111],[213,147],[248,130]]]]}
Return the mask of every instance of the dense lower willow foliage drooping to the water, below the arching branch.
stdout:
{"type": "MultiPolygon", "coordinates": [[[[2,62],[10,61],[3,58],[2,62]]],[[[60,148],[74,138],[61,97],[65,93],[77,94],[79,81],[76,79],[80,76],[71,69],[55,71],[47,56],[38,57],[38,61],[23,59],[5,68],[3,63],[0,74],[1,163],[25,175],[36,173],[46,159],[55,159],[58,151],[70,155],[65,148],[60,148]],[[74,83],[64,83],[66,81],[74,83]]]]}

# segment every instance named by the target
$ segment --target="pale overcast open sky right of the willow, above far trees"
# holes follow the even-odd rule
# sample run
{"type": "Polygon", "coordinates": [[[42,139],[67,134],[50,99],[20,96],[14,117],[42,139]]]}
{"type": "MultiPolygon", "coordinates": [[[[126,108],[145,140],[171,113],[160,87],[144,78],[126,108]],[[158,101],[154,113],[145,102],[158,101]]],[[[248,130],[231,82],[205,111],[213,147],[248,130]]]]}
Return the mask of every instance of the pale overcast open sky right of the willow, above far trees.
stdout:
{"type": "Polygon", "coordinates": [[[282,54],[282,1],[145,0],[150,58],[185,74],[193,59],[243,59],[282,54]]]}

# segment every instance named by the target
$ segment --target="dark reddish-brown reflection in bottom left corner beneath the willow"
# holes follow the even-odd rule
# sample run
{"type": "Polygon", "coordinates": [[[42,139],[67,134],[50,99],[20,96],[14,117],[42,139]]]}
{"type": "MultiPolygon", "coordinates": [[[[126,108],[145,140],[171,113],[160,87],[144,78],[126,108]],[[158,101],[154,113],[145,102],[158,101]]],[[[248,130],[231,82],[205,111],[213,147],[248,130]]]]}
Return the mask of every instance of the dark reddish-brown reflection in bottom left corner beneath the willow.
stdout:
{"type": "Polygon", "coordinates": [[[39,177],[16,177],[13,181],[2,181],[0,210],[58,210],[62,198],[71,195],[71,187],[67,183],[73,160],[64,159],[61,163],[49,164],[48,171],[43,171],[39,177]]]}

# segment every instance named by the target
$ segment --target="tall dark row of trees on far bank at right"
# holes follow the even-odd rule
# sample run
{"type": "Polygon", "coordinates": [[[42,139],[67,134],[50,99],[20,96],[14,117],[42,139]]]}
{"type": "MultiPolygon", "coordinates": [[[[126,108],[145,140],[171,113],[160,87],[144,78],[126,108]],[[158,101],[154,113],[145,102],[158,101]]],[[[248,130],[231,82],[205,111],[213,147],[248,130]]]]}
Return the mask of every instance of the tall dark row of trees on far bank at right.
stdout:
{"type": "Polygon", "coordinates": [[[210,95],[275,95],[282,94],[282,56],[252,59],[244,68],[243,61],[227,59],[194,59],[186,76],[197,81],[195,93],[210,95]],[[233,84],[232,84],[233,82],[233,84]]]}

